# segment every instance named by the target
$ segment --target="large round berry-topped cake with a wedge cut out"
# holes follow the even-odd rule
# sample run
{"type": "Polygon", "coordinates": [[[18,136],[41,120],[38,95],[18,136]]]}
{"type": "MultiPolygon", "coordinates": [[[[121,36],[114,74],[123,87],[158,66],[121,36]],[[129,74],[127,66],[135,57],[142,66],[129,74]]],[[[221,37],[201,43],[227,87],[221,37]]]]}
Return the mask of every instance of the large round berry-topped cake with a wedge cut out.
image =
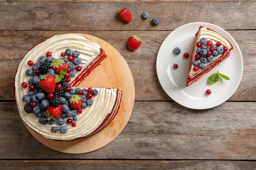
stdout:
{"type": "Polygon", "coordinates": [[[70,141],[104,129],[118,113],[117,88],[77,87],[107,55],[95,42],[62,34],[35,45],[15,76],[15,100],[27,126],[44,137],[70,141]]]}

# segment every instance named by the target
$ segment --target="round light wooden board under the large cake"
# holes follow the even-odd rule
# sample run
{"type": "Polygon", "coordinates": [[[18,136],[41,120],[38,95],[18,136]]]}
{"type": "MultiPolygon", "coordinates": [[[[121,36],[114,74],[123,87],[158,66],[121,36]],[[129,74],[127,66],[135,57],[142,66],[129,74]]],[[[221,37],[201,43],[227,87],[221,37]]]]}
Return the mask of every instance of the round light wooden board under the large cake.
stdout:
{"type": "Polygon", "coordinates": [[[98,43],[108,55],[78,87],[118,88],[122,91],[119,112],[112,122],[99,133],[77,141],[55,141],[45,138],[34,130],[27,129],[42,144],[64,153],[87,153],[109,144],[121,133],[127,124],[134,106],[135,88],[131,70],[121,54],[110,44],[97,37],[79,34],[98,43]]]}

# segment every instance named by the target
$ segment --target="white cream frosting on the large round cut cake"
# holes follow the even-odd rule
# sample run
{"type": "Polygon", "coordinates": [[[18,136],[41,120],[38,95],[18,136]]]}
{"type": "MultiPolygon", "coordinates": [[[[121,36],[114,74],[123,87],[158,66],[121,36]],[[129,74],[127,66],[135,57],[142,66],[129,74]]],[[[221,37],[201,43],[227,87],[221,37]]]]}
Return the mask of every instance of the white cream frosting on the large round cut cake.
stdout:
{"type": "MultiPolygon", "coordinates": [[[[36,45],[31,51],[29,51],[20,62],[15,76],[15,99],[22,120],[37,133],[49,139],[72,140],[92,133],[97,127],[99,127],[112,109],[116,109],[113,108],[113,106],[117,95],[120,95],[117,94],[116,88],[96,88],[99,91],[99,94],[97,96],[93,96],[93,105],[83,109],[82,113],[77,115],[78,120],[76,121],[76,127],[71,127],[71,125],[67,123],[64,124],[68,127],[68,132],[65,134],[60,132],[53,133],[51,131],[52,126],[59,126],[57,123],[54,125],[41,125],[39,123],[39,118],[34,114],[27,114],[23,109],[26,103],[23,102],[22,96],[28,94],[28,88],[22,88],[20,86],[22,82],[28,82],[29,79],[26,75],[26,69],[31,67],[27,65],[27,62],[29,60],[32,60],[34,63],[38,62],[38,58],[45,55],[47,51],[52,53],[52,57],[59,58],[61,57],[60,54],[67,48],[80,52],[79,58],[81,59],[81,67],[83,69],[86,68],[86,66],[89,65],[90,62],[92,62],[100,53],[100,46],[98,44],[77,34],[56,35],[45,40],[39,45],[36,45]]],[[[77,74],[78,73],[76,73],[76,76],[77,74]]],[[[118,107],[118,105],[116,105],[116,107],[118,107]]]]}

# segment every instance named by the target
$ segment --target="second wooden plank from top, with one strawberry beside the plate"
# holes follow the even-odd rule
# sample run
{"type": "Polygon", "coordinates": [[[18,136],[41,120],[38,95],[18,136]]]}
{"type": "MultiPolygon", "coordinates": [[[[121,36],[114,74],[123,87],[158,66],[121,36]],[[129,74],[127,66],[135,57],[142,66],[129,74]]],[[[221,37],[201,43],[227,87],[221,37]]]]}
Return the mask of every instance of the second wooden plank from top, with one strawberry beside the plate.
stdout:
{"type": "MultiPolygon", "coordinates": [[[[13,100],[15,70],[23,55],[33,45],[56,34],[78,31],[0,31],[0,100],[13,100]]],[[[157,53],[163,40],[171,31],[141,31],[142,45],[136,51],[128,51],[126,42],[138,31],[79,31],[107,41],[125,58],[135,82],[135,100],[169,101],[156,73],[157,53]],[[118,38],[117,38],[118,37],[118,38]]],[[[256,101],[256,31],[228,31],[237,41],[244,59],[244,74],[239,88],[229,101],[256,101]]]]}

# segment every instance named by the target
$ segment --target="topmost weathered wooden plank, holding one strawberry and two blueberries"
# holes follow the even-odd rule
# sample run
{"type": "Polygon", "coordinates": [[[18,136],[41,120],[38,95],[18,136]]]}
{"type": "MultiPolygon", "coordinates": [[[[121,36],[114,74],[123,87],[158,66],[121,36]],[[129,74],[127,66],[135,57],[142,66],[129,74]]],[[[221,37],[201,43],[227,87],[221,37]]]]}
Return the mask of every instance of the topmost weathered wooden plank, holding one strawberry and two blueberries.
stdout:
{"type": "Polygon", "coordinates": [[[227,2],[2,2],[1,30],[174,30],[186,23],[209,22],[224,29],[256,29],[255,1],[227,2]],[[131,23],[117,17],[116,7],[127,6],[131,23]],[[159,10],[156,10],[159,9],[159,10]],[[216,10],[218,9],[218,10],[216,10]],[[147,11],[160,24],[142,20],[147,11]],[[223,18],[224,19],[221,19],[223,18]],[[227,19],[225,19],[227,18],[227,19]]]}

